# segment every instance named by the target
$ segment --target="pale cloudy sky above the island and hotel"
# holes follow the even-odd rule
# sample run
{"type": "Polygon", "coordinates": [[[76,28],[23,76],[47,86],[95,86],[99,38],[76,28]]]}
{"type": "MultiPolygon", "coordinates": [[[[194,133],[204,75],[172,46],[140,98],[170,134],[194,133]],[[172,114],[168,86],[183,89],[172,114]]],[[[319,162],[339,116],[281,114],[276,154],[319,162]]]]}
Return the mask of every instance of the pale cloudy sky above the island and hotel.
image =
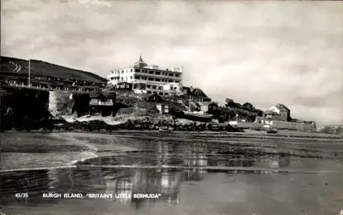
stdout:
{"type": "Polygon", "coordinates": [[[106,77],[139,54],[215,101],[343,124],[342,1],[1,0],[1,56],[106,77]]]}

